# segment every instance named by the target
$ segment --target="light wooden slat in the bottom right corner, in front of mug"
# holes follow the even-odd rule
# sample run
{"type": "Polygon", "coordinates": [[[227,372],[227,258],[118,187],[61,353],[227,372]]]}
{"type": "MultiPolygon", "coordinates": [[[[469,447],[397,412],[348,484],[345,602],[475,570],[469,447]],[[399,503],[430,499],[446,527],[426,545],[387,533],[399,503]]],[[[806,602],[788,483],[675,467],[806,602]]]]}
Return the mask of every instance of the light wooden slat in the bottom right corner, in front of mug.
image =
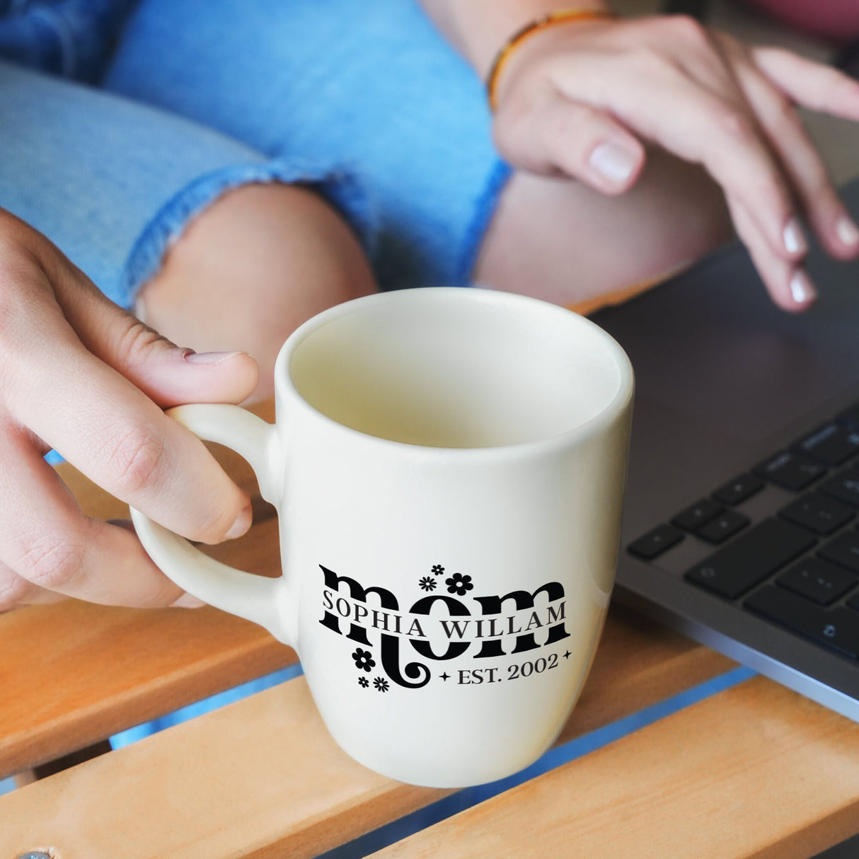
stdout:
{"type": "Polygon", "coordinates": [[[859,832],[859,725],[755,678],[374,854],[807,859],[859,832]]]}

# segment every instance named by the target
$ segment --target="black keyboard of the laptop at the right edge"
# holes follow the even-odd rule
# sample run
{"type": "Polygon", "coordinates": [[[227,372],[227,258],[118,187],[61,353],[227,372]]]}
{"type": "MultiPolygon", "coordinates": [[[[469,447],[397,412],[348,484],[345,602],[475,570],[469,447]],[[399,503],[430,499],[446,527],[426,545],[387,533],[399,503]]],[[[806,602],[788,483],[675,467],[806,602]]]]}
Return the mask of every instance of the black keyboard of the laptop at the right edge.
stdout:
{"type": "Polygon", "coordinates": [[[714,551],[686,582],[859,660],[859,403],[627,546],[652,561],[687,535],[714,551]],[[752,522],[734,509],[773,484],[794,497],[752,522]]]}

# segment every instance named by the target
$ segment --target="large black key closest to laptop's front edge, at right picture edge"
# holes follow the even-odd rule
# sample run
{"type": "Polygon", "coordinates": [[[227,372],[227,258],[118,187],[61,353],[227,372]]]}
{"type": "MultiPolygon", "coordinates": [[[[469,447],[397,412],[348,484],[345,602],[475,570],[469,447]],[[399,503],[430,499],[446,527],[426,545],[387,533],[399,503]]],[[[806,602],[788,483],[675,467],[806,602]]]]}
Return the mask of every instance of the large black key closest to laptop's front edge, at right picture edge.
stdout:
{"type": "Polygon", "coordinates": [[[743,605],[825,647],[859,659],[859,624],[846,608],[819,608],[772,585],[752,594],[743,605]]]}

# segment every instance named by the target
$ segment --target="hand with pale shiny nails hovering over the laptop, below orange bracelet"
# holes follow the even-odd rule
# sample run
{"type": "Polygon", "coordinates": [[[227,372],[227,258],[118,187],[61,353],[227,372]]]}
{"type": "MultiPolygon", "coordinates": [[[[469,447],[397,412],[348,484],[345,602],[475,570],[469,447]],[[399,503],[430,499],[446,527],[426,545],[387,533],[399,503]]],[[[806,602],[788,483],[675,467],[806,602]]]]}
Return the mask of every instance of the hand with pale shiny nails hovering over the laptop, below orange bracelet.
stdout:
{"type": "Polygon", "coordinates": [[[801,216],[829,253],[859,253],[859,230],[794,107],[859,119],[859,82],[837,70],[685,17],[574,20],[523,42],[496,92],[497,147],[516,168],[618,194],[642,171],[642,141],[702,164],[782,308],[816,295],[801,216]]]}

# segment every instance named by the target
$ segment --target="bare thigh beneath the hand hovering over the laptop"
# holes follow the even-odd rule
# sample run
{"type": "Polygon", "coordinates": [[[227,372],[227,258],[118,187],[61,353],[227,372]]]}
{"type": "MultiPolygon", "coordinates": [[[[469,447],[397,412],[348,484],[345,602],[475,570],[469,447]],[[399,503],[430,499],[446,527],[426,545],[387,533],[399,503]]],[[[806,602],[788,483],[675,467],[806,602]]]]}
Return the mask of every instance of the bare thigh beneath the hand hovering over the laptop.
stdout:
{"type": "Polygon", "coordinates": [[[515,174],[474,279],[557,304],[583,302],[676,271],[733,235],[722,192],[699,168],[649,153],[630,192],[515,174]]]}

